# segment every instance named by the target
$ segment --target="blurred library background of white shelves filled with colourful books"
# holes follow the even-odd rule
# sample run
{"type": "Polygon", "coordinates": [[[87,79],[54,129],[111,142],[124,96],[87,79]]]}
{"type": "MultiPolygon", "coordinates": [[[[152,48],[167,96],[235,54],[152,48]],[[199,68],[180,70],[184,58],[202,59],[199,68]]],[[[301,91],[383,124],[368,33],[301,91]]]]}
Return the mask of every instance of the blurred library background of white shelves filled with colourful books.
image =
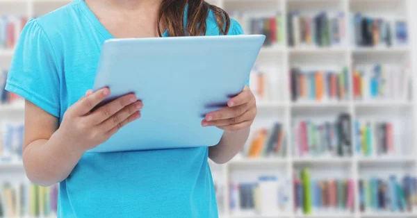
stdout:
{"type": "MultiPolygon", "coordinates": [[[[56,217],[57,187],[24,176],[24,103],[3,87],[28,18],[69,1],[0,0],[0,217],[56,217]]],[[[417,217],[417,1],[210,2],[267,35],[250,140],[211,163],[220,217],[417,217]]]]}

